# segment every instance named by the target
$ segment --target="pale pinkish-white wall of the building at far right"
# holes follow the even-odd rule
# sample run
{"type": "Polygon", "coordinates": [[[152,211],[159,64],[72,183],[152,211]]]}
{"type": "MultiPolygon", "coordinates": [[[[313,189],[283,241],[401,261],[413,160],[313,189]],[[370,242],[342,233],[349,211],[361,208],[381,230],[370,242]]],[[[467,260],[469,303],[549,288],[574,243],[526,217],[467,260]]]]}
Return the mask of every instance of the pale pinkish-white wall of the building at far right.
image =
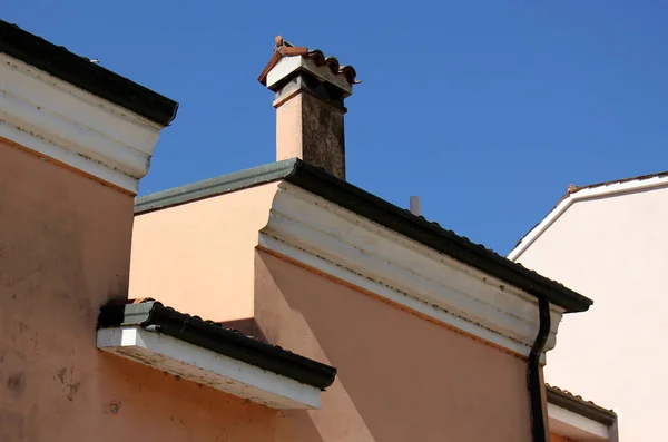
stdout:
{"type": "Polygon", "coordinates": [[[619,414],[620,440],[665,440],[668,189],[578,202],[519,262],[591,297],[567,315],[547,382],[619,414]]]}

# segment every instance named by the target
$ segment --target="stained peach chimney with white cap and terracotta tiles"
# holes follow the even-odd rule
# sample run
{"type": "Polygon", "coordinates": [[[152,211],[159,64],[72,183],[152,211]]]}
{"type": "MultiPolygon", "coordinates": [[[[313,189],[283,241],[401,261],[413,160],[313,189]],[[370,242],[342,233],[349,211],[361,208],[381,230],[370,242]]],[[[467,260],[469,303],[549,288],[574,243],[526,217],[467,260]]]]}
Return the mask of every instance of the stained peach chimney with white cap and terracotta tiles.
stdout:
{"type": "Polygon", "coordinates": [[[258,79],[276,94],[276,160],[298,157],[345,179],[344,99],[358,82],[355,75],[321,50],[276,37],[258,79]]]}

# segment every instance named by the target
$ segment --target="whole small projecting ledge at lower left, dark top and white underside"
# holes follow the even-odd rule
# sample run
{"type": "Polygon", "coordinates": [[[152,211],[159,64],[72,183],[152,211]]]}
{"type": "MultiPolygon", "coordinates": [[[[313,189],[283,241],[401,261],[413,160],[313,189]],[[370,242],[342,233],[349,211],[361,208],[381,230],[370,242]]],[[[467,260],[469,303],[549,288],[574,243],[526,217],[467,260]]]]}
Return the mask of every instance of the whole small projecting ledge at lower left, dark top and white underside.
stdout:
{"type": "Polygon", "coordinates": [[[100,310],[97,347],[273,409],[317,409],[336,370],[158,303],[100,310]]]}

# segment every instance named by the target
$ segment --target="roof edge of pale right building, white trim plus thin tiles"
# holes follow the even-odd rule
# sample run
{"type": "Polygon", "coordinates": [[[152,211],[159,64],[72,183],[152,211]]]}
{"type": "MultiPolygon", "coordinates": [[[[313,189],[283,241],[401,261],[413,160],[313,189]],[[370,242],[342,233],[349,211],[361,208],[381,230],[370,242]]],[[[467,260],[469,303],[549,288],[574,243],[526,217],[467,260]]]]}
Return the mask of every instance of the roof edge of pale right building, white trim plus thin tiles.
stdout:
{"type": "Polygon", "coordinates": [[[520,240],[514,245],[513,249],[508,254],[510,259],[518,259],[519,256],[533,242],[561,216],[573,203],[596,197],[608,197],[625,195],[632,191],[647,190],[650,188],[668,186],[668,170],[657,174],[640,175],[636,177],[615,179],[610,181],[595,183],[587,186],[577,186],[571,184],[568,186],[566,194],[557,202],[550,213],[529,232],[527,232],[520,240]]]}

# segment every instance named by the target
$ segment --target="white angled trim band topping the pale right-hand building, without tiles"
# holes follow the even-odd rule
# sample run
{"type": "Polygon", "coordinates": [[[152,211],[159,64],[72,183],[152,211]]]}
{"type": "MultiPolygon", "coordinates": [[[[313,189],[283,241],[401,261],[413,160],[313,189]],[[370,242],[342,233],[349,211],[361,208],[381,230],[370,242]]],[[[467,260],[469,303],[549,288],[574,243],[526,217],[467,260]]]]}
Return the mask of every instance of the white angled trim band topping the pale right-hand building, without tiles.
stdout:
{"type": "Polygon", "coordinates": [[[630,194],[633,191],[651,190],[668,186],[668,176],[647,178],[642,180],[612,183],[605,186],[582,188],[562,199],[536,227],[533,227],[518,245],[508,254],[510,261],[518,261],[563,213],[573,204],[595,198],[630,194]]]}

